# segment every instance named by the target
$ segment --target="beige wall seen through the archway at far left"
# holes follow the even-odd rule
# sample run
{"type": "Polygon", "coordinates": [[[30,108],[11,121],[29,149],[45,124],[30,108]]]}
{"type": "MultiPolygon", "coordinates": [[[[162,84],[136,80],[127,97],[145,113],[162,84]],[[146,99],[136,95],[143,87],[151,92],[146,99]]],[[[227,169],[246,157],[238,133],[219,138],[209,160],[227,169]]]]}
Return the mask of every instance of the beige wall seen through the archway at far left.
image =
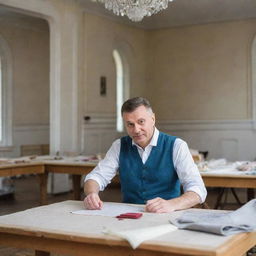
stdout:
{"type": "Polygon", "coordinates": [[[21,145],[49,144],[49,27],[43,19],[2,15],[0,35],[8,45],[5,64],[11,70],[10,81],[3,81],[9,97],[3,101],[8,108],[4,122],[12,123],[6,131],[11,140],[0,147],[0,156],[17,157],[21,145]]]}

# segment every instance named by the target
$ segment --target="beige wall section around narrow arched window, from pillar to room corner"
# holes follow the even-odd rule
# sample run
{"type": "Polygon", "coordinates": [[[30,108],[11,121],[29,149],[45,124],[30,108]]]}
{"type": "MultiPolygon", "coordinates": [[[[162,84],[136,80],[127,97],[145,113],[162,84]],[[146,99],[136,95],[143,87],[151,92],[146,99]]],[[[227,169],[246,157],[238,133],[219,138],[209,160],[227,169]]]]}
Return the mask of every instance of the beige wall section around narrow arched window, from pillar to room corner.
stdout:
{"type": "Polygon", "coordinates": [[[116,131],[116,70],[113,50],[123,58],[130,97],[145,95],[148,38],[146,31],[119,24],[106,18],[84,14],[84,121],[82,151],[85,154],[105,153],[116,131]],[[100,76],[107,80],[107,94],[100,96],[100,76]]]}

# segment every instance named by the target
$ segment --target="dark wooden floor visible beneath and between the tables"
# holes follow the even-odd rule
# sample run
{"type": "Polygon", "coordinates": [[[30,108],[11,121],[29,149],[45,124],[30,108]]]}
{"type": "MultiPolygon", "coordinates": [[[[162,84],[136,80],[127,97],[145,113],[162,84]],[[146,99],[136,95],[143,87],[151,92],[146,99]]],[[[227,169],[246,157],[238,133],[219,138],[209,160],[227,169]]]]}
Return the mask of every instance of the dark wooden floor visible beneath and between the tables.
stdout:
{"type": "MultiPolygon", "coordinates": [[[[13,198],[1,198],[0,197],[0,215],[10,214],[17,211],[26,210],[32,207],[39,206],[39,185],[35,176],[26,176],[15,178],[13,180],[15,186],[15,194],[13,198]]],[[[236,192],[242,202],[246,200],[246,191],[237,189],[236,192]]],[[[211,189],[208,191],[207,204],[210,208],[215,205],[218,191],[211,189]]],[[[83,195],[81,194],[81,198],[83,195]]],[[[120,188],[118,186],[112,186],[107,188],[104,193],[101,194],[103,201],[121,202],[120,188]]],[[[64,200],[71,200],[72,193],[64,193],[59,195],[49,195],[49,203],[60,202],[64,200]]],[[[227,191],[225,195],[224,209],[235,210],[239,207],[232,194],[227,191]]],[[[8,248],[0,245],[0,256],[32,256],[33,251],[24,249],[8,248]]],[[[60,256],[53,254],[54,256],[60,256]]],[[[253,254],[256,256],[256,254],[253,254]]],[[[64,256],[64,255],[61,255],[64,256]]],[[[66,256],[66,255],[65,255],[66,256]]]]}

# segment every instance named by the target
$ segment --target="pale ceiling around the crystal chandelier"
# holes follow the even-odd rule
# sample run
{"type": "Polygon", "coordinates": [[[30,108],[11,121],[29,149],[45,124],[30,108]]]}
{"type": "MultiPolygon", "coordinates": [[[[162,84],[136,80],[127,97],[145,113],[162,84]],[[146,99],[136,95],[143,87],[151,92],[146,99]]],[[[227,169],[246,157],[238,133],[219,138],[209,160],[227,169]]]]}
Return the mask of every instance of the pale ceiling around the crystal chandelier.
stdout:
{"type": "Polygon", "coordinates": [[[205,24],[256,18],[256,0],[174,0],[169,7],[141,22],[117,17],[101,3],[78,0],[86,12],[97,13],[122,23],[145,29],[159,29],[184,25],[205,24]]]}

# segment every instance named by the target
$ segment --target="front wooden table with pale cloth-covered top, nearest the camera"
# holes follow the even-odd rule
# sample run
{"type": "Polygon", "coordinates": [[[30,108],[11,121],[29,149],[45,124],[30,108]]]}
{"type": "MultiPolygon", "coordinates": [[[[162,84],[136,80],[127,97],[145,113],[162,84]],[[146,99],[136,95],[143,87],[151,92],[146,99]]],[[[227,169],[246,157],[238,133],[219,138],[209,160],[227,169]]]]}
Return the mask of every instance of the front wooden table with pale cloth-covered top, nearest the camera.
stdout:
{"type": "MultiPolygon", "coordinates": [[[[36,251],[74,256],[239,256],[256,244],[256,233],[218,236],[177,230],[143,242],[133,250],[123,239],[103,234],[103,228],[124,230],[169,223],[170,214],[144,213],[138,220],[85,216],[71,211],[83,209],[82,202],[65,201],[0,217],[0,244],[36,251]]],[[[203,210],[202,210],[203,211],[203,210]]]]}

